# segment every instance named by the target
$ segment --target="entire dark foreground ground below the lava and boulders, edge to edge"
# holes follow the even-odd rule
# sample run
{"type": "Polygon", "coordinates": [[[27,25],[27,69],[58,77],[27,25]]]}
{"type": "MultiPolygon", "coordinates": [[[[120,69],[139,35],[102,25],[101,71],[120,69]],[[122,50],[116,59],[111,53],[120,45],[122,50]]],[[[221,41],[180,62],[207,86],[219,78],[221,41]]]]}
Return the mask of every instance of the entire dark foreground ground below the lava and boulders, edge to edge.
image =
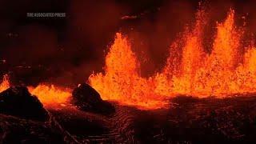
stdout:
{"type": "Polygon", "coordinates": [[[3,143],[254,143],[256,96],[170,99],[165,110],[111,102],[115,112],[94,114],[66,106],[47,110],[46,122],[1,114],[3,143]]]}

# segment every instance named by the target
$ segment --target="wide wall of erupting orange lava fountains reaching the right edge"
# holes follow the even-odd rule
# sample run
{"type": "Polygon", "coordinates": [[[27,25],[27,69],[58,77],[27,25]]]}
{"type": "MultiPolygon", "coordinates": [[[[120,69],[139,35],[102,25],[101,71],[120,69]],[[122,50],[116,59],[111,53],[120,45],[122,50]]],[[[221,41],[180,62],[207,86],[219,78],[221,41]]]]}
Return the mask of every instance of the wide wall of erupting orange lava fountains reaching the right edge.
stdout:
{"type": "Polygon", "coordinates": [[[90,85],[105,100],[143,109],[164,108],[166,99],[179,94],[224,98],[255,93],[256,47],[245,46],[243,28],[234,24],[234,10],[224,22],[217,22],[210,52],[203,44],[206,15],[198,11],[193,29],[173,42],[166,66],[150,78],[140,75],[140,62],[129,39],[117,33],[106,55],[104,73],[91,74],[90,85]]]}

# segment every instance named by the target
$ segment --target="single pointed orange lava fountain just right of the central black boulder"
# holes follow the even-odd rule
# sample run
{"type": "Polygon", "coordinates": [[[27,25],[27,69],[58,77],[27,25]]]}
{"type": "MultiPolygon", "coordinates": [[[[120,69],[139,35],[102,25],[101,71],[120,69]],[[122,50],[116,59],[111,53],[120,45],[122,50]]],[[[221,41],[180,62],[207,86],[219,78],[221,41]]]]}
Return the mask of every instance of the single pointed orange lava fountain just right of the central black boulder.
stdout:
{"type": "Polygon", "coordinates": [[[130,42],[118,33],[106,55],[106,73],[92,74],[90,85],[105,100],[142,107],[165,106],[167,102],[163,101],[164,98],[154,93],[154,80],[142,78],[138,73],[139,66],[130,42]]]}

